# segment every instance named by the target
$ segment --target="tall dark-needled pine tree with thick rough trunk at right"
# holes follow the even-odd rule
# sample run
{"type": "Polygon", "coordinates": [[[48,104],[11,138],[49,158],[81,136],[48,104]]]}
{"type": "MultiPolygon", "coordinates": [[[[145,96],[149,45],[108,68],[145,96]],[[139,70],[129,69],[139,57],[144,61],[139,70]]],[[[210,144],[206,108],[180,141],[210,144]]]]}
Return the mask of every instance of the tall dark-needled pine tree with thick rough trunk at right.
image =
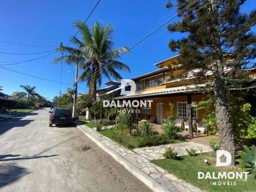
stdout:
{"type": "MultiPolygon", "coordinates": [[[[216,121],[221,149],[231,153],[235,163],[235,144],[229,117],[229,89],[227,85],[253,66],[256,58],[256,10],[242,13],[246,0],[177,0],[180,22],[168,25],[171,33],[184,33],[179,40],[171,40],[169,48],[179,52],[182,67],[198,68],[197,79],[206,72],[214,77],[216,121]],[[189,6],[189,7],[188,7],[189,6]],[[231,69],[227,73],[227,69],[231,69]]],[[[171,8],[170,2],[166,4],[171,8]]]]}

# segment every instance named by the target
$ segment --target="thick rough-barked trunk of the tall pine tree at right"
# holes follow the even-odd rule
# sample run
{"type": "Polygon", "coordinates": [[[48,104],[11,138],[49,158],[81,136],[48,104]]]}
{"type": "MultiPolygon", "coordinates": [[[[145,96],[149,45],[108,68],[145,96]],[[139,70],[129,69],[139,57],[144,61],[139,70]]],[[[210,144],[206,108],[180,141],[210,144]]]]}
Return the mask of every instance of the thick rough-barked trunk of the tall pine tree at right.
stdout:
{"type": "Polygon", "coordinates": [[[222,150],[230,152],[232,157],[231,165],[235,165],[235,142],[233,129],[229,119],[228,90],[225,86],[224,79],[216,78],[214,82],[216,121],[220,147],[222,150]]]}

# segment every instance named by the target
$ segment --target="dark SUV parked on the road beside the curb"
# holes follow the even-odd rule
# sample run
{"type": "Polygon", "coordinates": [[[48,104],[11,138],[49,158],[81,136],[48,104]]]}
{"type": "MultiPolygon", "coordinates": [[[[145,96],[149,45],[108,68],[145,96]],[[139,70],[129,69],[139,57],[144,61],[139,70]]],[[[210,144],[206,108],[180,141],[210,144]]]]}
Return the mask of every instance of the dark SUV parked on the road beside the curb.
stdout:
{"type": "Polygon", "coordinates": [[[49,126],[53,126],[53,124],[72,124],[73,118],[71,111],[65,108],[54,108],[51,112],[49,111],[49,126]]]}

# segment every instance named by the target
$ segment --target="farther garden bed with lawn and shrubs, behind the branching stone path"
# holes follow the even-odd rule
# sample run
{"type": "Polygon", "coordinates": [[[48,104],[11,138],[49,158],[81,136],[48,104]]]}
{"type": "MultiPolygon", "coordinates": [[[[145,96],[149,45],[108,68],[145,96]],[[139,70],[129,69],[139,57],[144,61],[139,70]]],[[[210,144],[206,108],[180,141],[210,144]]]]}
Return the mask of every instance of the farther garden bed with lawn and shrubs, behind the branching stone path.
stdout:
{"type": "MultiPolygon", "coordinates": [[[[172,111],[172,109],[170,111],[172,111]]],[[[177,136],[179,132],[182,132],[182,129],[175,125],[175,116],[172,114],[170,114],[169,118],[164,122],[164,134],[156,132],[150,120],[141,120],[139,122],[136,113],[132,113],[129,108],[122,111],[122,113],[116,114],[115,117],[111,117],[112,119],[118,119],[118,121],[116,121],[118,123],[115,125],[115,120],[112,120],[113,126],[109,129],[102,130],[102,122],[104,121],[101,121],[101,123],[95,124],[97,131],[130,149],[185,141],[177,136]]],[[[111,121],[107,120],[105,122],[111,121]]],[[[90,126],[90,124],[91,122],[85,125],[90,126]]]]}

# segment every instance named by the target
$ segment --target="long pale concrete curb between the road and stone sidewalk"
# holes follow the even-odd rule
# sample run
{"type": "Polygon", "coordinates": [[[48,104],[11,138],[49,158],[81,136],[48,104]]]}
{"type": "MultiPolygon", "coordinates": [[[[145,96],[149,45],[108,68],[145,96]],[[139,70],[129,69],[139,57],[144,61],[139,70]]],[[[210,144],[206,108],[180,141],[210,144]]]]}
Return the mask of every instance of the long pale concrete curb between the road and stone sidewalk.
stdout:
{"type": "Polygon", "coordinates": [[[118,163],[124,166],[129,172],[131,172],[136,178],[140,179],[145,185],[148,186],[154,192],[170,192],[168,189],[157,183],[154,179],[150,178],[147,174],[139,170],[137,167],[132,165],[126,159],[121,157],[119,154],[114,152],[108,146],[104,145],[99,139],[94,137],[92,134],[83,129],[82,126],[77,126],[88,138],[92,139],[98,146],[100,146],[105,152],[111,155],[118,163]]]}

